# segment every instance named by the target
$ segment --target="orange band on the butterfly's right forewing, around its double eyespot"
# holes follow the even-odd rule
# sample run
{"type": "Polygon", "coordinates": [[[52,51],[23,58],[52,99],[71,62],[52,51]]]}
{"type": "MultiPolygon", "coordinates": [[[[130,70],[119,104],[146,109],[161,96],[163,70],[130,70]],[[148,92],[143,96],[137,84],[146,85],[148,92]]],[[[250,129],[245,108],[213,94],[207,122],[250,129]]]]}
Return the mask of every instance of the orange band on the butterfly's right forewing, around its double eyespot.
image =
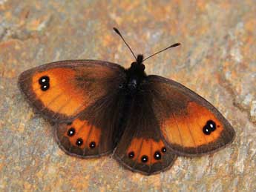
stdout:
{"type": "Polygon", "coordinates": [[[163,123],[161,130],[168,142],[182,147],[196,148],[216,141],[223,131],[223,125],[206,107],[189,102],[186,111],[171,114],[163,123]],[[216,123],[216,130],[206,135],[203,133],[203,127],[209,120],[216,123]]]}

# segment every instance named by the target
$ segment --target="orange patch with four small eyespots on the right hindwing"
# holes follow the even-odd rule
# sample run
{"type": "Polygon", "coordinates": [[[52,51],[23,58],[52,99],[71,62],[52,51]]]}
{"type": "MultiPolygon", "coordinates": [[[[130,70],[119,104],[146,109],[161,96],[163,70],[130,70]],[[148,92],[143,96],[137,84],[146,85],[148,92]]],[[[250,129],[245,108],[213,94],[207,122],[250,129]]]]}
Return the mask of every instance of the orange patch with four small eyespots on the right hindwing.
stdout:
{"type": "Polygon", "coordinates": [[[151,165],[161,162],[165,151],[165,145],[161,140],[156,142],[154,139],[135,138],[132,139],[126,155],[138,163],[151,165]]]}

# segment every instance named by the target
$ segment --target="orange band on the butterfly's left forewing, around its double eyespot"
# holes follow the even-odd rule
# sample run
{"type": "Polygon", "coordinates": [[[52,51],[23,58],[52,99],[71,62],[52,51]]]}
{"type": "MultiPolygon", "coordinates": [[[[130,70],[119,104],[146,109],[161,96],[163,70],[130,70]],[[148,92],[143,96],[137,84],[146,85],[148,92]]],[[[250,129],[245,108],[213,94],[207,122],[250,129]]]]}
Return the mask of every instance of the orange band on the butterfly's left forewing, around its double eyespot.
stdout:
{"type": "Polygon", "coordinates": [[[54,68],[33,76],[33,92],[42,105],[55,113],[67,116],[75,115],[85,109],[88,104],[88,96],[85,90],[77,87],[75,71],[70,68],[54,68]],[[42,76],[50,78],[50,88],[41,90],[39,79],[42,76]]]}

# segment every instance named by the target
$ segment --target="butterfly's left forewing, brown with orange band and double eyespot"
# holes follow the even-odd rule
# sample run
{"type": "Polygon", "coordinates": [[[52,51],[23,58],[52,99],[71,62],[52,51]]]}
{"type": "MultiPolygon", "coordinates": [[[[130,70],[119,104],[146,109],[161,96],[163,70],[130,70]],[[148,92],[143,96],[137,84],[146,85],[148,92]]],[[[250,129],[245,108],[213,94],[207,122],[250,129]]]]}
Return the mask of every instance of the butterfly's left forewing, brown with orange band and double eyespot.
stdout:
{"type": "Polygon", "coordinates": [[[19,87],[53,122],[72,119],[125,79],[118,64],[92,60],[53,62],[24,71],[19,87]]]}

